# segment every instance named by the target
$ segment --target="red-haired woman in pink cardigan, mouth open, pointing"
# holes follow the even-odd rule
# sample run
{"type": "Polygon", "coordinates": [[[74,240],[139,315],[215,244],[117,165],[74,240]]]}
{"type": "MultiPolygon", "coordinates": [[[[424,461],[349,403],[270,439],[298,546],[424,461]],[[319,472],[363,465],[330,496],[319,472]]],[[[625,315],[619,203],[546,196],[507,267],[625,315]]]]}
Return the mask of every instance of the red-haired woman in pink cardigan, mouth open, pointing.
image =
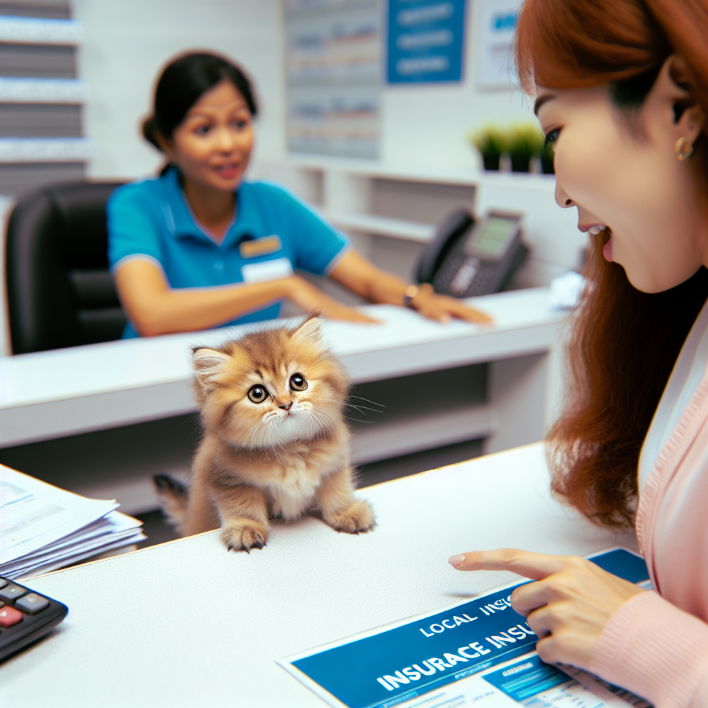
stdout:
{"type": "Polygon", "coordinates": [[[636,528],[654,590],[578,557],[450,559],[537,580],[512,603],[541,658],[656,708],[708,706],[707,38],[708,0],[526,0],[517,31],[556,202],[591,236],[552,486],[636,528]]]}

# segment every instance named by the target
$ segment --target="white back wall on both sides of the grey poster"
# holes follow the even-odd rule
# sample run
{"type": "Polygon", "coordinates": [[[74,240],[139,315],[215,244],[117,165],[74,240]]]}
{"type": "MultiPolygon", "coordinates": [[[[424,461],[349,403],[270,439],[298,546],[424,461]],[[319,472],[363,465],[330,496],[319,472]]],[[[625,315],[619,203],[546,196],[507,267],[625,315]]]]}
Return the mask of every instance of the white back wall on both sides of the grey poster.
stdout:
{"type": "MultiPolygon", "coordinates": [[[[468,0],[467,51],[460,84],[384,86],[382,162],[434,169],[476,169],[467,133],[489,120],[529,118],[520,92],[478,91],[474,38],[477,3],[468,0]]],[[[234,57],[261,96],[256,161],[285,156],[285,74],[280,0],[73,0],[84,24],[79,75],[89,83],[86,135],[98,142],[94,178],[153,173],[157,152],[138,124],[149,112],[153,83],[166,59],[195,47],[234,57]]]]}

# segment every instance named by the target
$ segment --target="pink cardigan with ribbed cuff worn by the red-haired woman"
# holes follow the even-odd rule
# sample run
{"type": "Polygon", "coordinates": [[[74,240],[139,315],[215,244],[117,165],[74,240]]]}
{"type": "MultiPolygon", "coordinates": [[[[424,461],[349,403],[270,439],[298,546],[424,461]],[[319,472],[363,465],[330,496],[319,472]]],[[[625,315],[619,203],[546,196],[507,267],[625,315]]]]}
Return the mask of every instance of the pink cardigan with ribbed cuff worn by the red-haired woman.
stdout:
{"type": "Polygon", "coordinates": [[[590,670],[656,708],[708,708],[708,369],[649,474],[636,535],[656,592],[610,617],[590,670]]]}

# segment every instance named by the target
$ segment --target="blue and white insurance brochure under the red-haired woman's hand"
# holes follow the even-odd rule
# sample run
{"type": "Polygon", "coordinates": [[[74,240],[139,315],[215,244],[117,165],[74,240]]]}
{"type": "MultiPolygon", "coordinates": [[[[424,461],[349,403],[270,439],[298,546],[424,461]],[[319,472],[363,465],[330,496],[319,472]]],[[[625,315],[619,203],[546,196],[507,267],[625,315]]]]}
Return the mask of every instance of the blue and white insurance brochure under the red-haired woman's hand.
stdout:
{"type": "MultiPolygon", "coordinates": [[[[644,559],[613,548],[588,556],[651,588],[644,559]]],[[[643,699],[535,652],[538,637],[511,608],[509,583],[444,610],[401,619],[278,661],[332,706],[649,707],[643,699]]]]}

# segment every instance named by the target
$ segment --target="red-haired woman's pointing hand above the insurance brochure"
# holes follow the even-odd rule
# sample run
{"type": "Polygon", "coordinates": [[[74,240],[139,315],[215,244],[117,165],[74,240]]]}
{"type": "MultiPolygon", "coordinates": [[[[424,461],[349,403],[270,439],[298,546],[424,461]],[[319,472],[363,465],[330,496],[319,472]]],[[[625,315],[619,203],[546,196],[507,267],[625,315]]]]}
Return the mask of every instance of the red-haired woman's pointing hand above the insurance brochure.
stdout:
{"type": "Polygon", "coordinates": [[[536,651],[547,663],[590,668],[607,620],[634,595],[634,583],[579,556],[547,556],[502,548],[452,556],[460,571],[512,571],[532,578],[511,593],[511,606],[539,636],[536,651]]]}

